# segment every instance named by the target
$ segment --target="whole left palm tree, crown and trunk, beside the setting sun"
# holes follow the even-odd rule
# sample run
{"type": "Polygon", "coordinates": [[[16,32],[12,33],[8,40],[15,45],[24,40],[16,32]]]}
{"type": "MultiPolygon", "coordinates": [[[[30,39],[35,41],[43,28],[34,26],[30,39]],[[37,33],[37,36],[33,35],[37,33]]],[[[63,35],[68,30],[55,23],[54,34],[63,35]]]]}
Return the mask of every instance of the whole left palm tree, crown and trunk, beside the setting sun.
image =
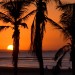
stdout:
{"type": "Polygon", "coordinates": [[[8,2],[5,2],[2,4],[2,8],[4,8],[7,13],[0,12],[0,20],[3,20],[4,22],[8,23],[10,22],[13,27],[11,26],[1,26],[1,29],[11,27],[14,29],[13,33],[13,66],[14,66],[14,73],[17,75],[17,63],[18,63],[18,53],[19,53],[19,35],[20,30],[19,26],[23,26],[24,28],[28,28],[26,23],[23,23],[22,20],[24,20],[24,17],[22,17],[22,14],[24,13],[24,6],[28,6],[33,0],[10,0],[8,2]]]}

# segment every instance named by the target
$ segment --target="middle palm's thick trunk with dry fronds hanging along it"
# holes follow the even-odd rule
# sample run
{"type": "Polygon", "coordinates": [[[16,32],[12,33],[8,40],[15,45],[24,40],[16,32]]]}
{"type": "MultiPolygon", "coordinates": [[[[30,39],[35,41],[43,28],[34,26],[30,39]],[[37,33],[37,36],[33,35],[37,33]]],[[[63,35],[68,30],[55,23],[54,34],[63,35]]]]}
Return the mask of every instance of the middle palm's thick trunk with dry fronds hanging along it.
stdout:
{"type": "MultiPolygon", "coordinates": [[[[43,39],[43,30],[45,27],[45,17],[44,17],[44,10],[46,9],[45,3],[42,0],[37,2],[37,12],[36,12],[36,26],[34,30],[34,24],[32,25],[32,33],[31,33],[31,40],[32,40],[32,49],[33,52],[36,54],[39,66],[40,66],[40,75],[44,75],[44,68],[43,68],[43,57],[42,57],[42,39],[43,39]],[[44,8],[43,8],[44,6],[44,8]],[[35,31],[35,33],[33,33],[35,31]],[[33,39],[34,37],[34,39],[33,39]]],[[[33,22],[34,23],[34,22],[33,22]]]]}

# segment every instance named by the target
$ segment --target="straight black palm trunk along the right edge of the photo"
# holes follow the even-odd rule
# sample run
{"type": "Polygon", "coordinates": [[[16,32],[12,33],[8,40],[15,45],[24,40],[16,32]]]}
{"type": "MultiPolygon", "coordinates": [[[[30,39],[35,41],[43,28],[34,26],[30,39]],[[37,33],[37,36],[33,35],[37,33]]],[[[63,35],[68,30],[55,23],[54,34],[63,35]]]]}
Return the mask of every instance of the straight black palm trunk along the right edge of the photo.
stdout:
{"type": "Polygon", "coordinates": [[[75,75],[75,5],[73,5],[73,14],[72,14],[72,71],[73,75],[75,75]]]}

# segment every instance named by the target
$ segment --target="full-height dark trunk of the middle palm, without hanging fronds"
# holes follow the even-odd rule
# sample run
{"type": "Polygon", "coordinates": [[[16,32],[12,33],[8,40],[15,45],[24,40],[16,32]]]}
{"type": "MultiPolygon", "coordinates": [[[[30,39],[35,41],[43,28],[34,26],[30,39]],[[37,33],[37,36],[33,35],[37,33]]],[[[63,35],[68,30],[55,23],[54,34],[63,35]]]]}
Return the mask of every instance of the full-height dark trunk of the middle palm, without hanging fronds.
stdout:
{"type": "Polygon", "coordinates": [[[43,57],[42,57],[42,37],[41,37],[41,19],[42,19],[42,0],[38,0],[38,12],[36,14],[36,56],[39,62],[40,75],[44,75],[43,57]]]}

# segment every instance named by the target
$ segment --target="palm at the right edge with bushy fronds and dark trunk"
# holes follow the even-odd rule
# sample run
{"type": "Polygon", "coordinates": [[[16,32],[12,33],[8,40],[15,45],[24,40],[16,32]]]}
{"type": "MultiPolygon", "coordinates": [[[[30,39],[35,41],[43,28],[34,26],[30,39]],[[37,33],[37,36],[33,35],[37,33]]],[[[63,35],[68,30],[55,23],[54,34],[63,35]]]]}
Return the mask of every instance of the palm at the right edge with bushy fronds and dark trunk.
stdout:
{"type": "Polygon", "coordinates": [[[73,75],[75,75],[75,4],[62,4],[59,8],[63,11],[60,17],[60,23],[63,26],[64,36],[71,39],[71,60],[73,75]]]}

